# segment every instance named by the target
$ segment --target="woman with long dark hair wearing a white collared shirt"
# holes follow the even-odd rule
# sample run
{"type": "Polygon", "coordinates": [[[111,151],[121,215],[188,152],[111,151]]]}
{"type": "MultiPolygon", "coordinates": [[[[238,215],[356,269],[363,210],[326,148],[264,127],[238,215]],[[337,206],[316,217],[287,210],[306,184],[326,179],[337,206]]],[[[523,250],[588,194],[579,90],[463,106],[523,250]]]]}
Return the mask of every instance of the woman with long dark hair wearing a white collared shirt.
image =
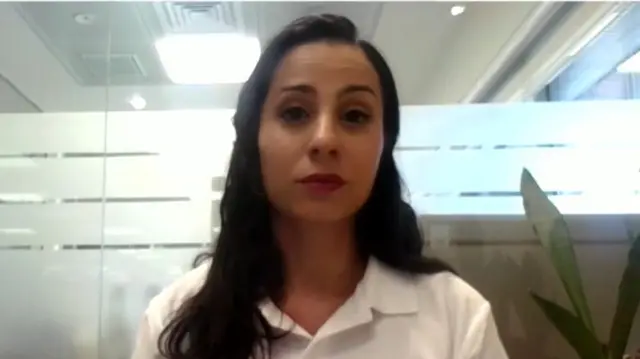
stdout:
{"type": "Polygon", "coordinates": [[[215,249],[154,298],[135,359],[506,358],[490,306],[422,256],[378,51],[301,18],[242,88],[215,249]]]}

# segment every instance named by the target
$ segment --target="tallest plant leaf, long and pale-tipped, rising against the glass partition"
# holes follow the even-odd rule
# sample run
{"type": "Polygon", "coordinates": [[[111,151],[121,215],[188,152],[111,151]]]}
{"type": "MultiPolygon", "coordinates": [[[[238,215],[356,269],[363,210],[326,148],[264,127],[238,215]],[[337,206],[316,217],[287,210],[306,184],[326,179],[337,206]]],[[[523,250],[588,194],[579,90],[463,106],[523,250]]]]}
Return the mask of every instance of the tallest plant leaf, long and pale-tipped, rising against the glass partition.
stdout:
{"type": "Polygon", "coordinates": [[[549,253],[574,311],[587,329],[594,332],[567,223],[527,169],[522,170],[520,193],[527,218],[542,247],[549,253]]]}

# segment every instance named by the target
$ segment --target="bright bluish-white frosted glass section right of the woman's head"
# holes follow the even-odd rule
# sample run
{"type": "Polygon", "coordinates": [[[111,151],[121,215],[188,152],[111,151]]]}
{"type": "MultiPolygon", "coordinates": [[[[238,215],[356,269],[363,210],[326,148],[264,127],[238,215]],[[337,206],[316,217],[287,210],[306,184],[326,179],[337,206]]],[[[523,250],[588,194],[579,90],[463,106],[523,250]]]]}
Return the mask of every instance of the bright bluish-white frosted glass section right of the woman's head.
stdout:
{"type": "Polygon", "coordinates": [[[396,151],[421,214],[522,214],[527,167],[566,214],[640,214],[640,101],[405,107],[396,151]]]}

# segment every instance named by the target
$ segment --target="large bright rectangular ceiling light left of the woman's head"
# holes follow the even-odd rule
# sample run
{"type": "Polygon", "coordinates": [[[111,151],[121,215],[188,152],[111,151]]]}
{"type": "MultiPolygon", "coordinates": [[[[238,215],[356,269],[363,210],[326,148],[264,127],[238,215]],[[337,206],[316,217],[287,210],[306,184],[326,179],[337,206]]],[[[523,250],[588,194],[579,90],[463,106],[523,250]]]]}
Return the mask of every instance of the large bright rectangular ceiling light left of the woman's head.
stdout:
{"type": "Polygon", "coordinates": [[[169,79],[183,85],[243,83],[260,58],[257,37],[234,33],[170,35],[155,46],[169,79]]]}

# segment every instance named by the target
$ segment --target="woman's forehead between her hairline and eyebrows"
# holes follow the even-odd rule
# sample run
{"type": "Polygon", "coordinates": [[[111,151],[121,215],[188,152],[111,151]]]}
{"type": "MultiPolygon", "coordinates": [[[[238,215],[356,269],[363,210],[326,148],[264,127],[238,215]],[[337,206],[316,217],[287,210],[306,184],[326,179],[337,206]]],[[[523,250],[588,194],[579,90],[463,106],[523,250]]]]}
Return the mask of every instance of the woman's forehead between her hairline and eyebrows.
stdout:
{"type": "Polygon", "coordinates": [[[293,49],[274,74],[274,86],[299,83],[318,87],[360,84],[375,91],[380,87],[375,69],[359,47],[322,42],[293,49]]]}

